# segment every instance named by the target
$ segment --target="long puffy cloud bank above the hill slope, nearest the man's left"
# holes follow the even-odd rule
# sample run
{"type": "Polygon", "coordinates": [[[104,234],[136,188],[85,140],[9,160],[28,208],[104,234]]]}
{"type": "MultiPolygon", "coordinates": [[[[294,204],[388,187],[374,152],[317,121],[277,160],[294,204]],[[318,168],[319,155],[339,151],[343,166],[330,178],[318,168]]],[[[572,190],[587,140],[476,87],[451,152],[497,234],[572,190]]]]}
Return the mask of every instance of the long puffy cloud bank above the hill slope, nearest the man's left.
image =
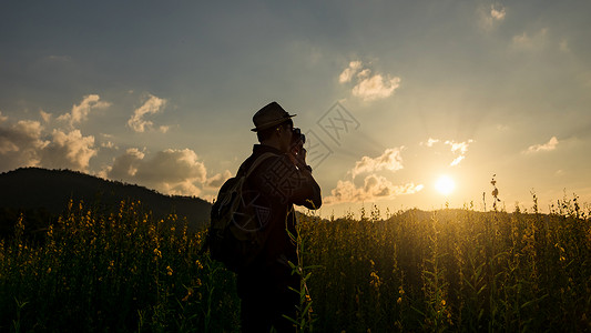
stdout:
{"type": "Polygon", "coordinates": [[[115,158],[102,175],[113,180],[137,183],[165,194],[198,195],[206,181],[205,164],[190,150],[167,149],[146,158],[133,148],[115,158]]]}

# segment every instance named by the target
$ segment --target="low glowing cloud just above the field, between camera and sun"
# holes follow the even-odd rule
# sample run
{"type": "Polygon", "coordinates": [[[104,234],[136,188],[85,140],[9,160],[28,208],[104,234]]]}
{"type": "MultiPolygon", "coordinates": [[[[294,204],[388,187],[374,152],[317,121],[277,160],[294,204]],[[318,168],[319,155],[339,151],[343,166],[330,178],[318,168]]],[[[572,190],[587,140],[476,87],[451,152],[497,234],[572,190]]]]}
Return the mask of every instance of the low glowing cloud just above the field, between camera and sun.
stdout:
{"type": "Polygon", "coordinates": [[[422,190],[424,185],[407,183],[394,185],[386,178],[370,174],[364,180],[363,186],[357,188],[351,181],[338,181],[337,186],[330,191],[330,195],[324,198],[325,204],[342,202],[364,202],[380,199],[394,199],[401,194],[412,194],[422,190]]]}

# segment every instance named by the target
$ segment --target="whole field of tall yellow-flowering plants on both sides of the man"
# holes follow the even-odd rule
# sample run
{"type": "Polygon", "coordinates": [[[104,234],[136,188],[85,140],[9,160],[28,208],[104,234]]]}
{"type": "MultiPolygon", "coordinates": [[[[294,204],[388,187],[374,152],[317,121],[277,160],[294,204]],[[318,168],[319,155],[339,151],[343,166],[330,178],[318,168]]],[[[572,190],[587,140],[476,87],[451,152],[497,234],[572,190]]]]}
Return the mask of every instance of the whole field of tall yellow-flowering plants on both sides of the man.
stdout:
{"type": "MultiPolygon", "coordinates": [[[[176,216],[139,202],[118,214],[71,203],[45,240],[27,218],[0,240],[0,331],[236,332],[235,276],[176,216]]],[[[317,332],[591,331],[591,219],[373,208],[299,221],[300,327],[317,332]],[[309,274],[309,275],[308,275],[309,274]]]]}

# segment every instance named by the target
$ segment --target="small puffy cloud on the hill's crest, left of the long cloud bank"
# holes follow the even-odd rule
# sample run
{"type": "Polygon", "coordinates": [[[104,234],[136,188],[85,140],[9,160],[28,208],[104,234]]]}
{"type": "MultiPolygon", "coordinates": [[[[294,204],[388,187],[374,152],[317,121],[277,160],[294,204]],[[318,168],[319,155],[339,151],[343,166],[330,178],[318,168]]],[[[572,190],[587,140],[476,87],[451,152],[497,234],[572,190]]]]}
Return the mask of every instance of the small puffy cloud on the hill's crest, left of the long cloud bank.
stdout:
{"type": "Polygon", "coordinates": [[[53,130],[53,140],[40,151],[44,168],[88,171],[90,159],[96,155],[94,137],[83,137],[79,130],[69,133],[53,130]]]}

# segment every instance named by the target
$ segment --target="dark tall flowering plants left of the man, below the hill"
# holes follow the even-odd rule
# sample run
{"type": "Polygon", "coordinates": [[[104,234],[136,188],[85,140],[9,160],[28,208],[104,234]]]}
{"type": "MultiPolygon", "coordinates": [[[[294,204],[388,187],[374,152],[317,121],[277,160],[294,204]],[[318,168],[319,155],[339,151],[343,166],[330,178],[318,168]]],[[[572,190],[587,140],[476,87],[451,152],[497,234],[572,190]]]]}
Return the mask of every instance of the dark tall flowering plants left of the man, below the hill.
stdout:
{"type": "Polygon", "coordinates": [[[109,215],[70,203],[37,245],[20,220],[0,241],[0,331],[232,331],[234,276],[176,220],[139,202],[109,215]]]}

